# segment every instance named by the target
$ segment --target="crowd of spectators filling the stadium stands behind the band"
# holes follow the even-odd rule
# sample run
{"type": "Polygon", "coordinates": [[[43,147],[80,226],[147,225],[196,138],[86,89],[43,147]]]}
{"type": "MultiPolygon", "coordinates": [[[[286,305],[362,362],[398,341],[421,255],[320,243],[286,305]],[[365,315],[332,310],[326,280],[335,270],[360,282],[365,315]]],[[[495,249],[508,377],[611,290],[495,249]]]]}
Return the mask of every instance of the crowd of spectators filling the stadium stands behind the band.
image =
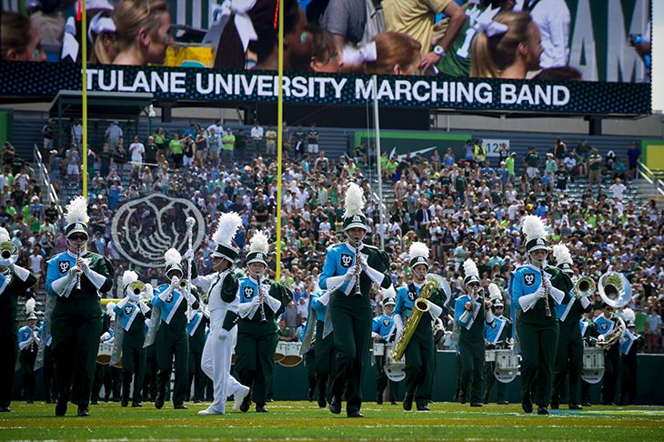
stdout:
{"type": "MultiPolygon", "coordinates": [[[[220,121],[192,124],[172,134],[156,128],[149,136],[134,137],[126,147],[120,127],[109,126],[106,143],[92,146],[89,153],[89,249],[108,256],[116,276],[121,276],[128,262],[112,240],[113,216],[124,201],[155,192],[191,200],[208,229],[216,226],[219,214],[236,211],[245,224],[236,237],[238,246],[245,246],[246,237],[257,229],[267,229],[275,241],[277,134],[274,126],[264,131],[258,122],[249,132],[233,131],[220,121]]],[[[451,148],[443,156],[436,151],[429,157],[384,155],[384,182],[394,186],[395,197],[381,223],[377,196],[366,179],[367,167],[375,164],[373,146],[362,143],[348,149],[347,155],[329,158],[318,136],[316,125],[284,126],[281,280],[293,289],[295,302],[280,323],[282,339],[297,339],[308,294],[319,288],[327,246],[345,240],[344,191],[355,181],[367,196],[367,241],[379,246],[383,236],[397,286],[409,280],[408,246],[425,240],[431,249],[431,271],[448,278],[453,297],[461,293],[461,264],[468,257],[478,263],[484,286],[493,281],[507,293],[510,272],[525,258],[521,221],[536,214],[546,219],[553,242],[570,248],[577,275],[597,280],[615,270],[629,276],[637,332],[648,336],[646,350],[661,351],[662,213],[654,201],[635,206],[623,197],[635,177],[636,146],[627,158],[619,158],[600,154],[586,141],[568,148],[558,138],[550,148],[533,147],[524,157],[501,146],[493,164],[481,140],[468,140],[460,156],[451,148]],[[580,200],[572,200],[565,192],[571,180],[594,186],[580,200]],[[608,181],[613,184],[606,185],[608,181]]],[[[80,181],[80,142],[75,132],[71,138],[68,149],[58,150],[52,142],[46,146],[45,137],[45,161],[54,185],[61,189],[80,181]]],[[[12,152],[5,146],[0,225],[21,245],[21,261],[43,275],[45,259],[65,250],[65,237],[56,207],[41,202],[44,195],[34,171],[12,152]]],[[[206,238],[196,253],[203,273],[211,271],[210,250],[206,238]]],[[[273,270],[274,264],[273,256],[273,270]]],[[[158,269],[144,270],[141,276],[163,282],[158,269]]],[[[374,296],[379,310],[380,295],[374,296]]],[[[599,296],[597,301],[599,306],[599,296]]],[[[505,302],[509,312],[507,296],[505,302]]]]}

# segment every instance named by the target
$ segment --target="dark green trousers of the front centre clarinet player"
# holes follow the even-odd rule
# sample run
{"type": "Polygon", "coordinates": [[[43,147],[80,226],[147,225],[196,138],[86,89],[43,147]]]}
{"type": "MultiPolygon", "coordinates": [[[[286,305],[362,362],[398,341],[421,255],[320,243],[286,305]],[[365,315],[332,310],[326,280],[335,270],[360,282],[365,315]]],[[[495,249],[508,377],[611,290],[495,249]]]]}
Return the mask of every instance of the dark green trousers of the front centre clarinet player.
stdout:
{"type": "Polygon", "coordinates": [[[330,316],[337,349],[337,373],[332,381],[332,396],[341,399],[346,391],[346,412],[362,407],[362,371],[371,343],[371,306],[368,300],[345,296],[334,299],[330,316]],[[335,302],[337,301],[337,302],[335,302]]]}

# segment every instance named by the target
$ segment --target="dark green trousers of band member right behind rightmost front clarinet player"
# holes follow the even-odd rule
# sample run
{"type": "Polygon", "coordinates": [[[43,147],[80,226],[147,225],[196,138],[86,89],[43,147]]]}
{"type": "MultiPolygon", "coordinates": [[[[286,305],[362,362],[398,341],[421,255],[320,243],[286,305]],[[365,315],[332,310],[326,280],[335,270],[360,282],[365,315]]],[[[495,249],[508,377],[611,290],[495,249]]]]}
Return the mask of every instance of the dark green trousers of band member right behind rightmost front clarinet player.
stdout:
{"type": "Polygon", "coordinates": [[[583,338],[578,321],[559,324],[556,366],[553,371],[553,398],[564,396],[565,377],[569,377],[568,403],[581,404],[581,371],[583,369],[583,338]]]}

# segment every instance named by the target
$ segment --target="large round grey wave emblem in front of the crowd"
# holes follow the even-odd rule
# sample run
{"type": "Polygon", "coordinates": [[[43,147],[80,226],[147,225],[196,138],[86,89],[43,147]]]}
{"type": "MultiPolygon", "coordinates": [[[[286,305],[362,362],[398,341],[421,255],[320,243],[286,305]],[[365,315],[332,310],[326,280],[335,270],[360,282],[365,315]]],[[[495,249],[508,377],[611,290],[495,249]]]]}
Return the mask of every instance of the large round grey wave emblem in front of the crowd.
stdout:
{"type": "Polygon", "coordinates": [[[166,250],[186,251],[186,218],[196,225],[192,246],[200,246],[206,235],[203,214],[191,201],[152,194],[127,201],[113,217],[112,236],[118,253],[136,266],[164,266],[166,250]]]}

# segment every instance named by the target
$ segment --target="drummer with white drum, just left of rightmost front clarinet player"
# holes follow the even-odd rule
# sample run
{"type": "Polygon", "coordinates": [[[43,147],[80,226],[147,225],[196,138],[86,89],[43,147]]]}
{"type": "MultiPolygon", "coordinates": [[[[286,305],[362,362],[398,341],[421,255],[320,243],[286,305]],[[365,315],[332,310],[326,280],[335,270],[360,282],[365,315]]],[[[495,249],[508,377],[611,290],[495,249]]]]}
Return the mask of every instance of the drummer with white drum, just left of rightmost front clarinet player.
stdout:
{"type": "MultiPolygon", "coordinates": [[[[508,317],[503,316],[503,299],[500,293],[500,288],[494,283],[488,285],[489,301],[491,301],[491,312],[493,313],[493,323],[484,325],[484,337],[487,340],[488,349],[505,349],[508,348],[512,340],[512,321],[508,317]]],[[[487,381],[484,390],[483,402],[489,403],[491,398],[491,390],[493,386],[498,384],[498,405],[507,405],[508,401],[505,398],[505,390],[507,385],[503,382],[497,382],[494,375],[496,368],[496,361],[489,361],[484,363],[484,377],[487,381]]]]}

